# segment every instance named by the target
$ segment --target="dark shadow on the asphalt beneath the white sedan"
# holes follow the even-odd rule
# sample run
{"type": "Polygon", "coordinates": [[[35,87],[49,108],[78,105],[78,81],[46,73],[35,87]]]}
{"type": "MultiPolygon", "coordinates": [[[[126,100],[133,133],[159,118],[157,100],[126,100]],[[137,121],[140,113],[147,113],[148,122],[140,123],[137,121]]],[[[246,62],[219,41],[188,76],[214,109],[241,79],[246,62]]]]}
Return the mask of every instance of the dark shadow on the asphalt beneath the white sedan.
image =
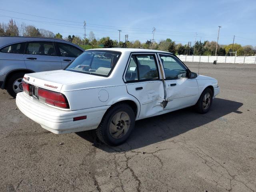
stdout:
{"type": "Polygon", "coordinates": [[[134,150],[178,136],[216,119],[226,121],[223,116],[232,112],[241,114],[242,112],[238,111],[238,108],[242,105],[240,102],[215,98],[212,108],[207,114],[198,114],[193,108],[185,108],[160,116],[138,120],[127,142],[116,147],[110,147],[99,142],[94,130],[76,134],[106,152],[134,150]]]}

